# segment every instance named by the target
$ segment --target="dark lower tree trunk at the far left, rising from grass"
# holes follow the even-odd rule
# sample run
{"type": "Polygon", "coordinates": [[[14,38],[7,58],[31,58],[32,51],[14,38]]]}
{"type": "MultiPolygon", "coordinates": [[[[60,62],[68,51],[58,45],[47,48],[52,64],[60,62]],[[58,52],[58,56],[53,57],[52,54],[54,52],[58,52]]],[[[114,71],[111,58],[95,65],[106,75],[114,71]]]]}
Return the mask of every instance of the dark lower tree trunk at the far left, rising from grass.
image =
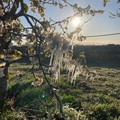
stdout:
{"type": "Polygon", "coordinates": [[[5,95],[7,91],[7,77],[8,66],[0,67],[0,110],[2,109],[5,101],[5,95]]]}

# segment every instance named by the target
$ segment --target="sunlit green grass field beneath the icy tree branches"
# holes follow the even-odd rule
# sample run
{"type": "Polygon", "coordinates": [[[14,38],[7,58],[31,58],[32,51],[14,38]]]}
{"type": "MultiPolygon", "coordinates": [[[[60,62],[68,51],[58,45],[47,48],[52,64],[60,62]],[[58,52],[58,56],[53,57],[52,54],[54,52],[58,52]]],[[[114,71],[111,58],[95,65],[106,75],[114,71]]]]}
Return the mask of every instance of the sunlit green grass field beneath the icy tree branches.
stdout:
{"type": "MultiPolygon", "coordinates": [[[[58,103],[47,83],[43,82],[40,87],[31,85],[34,81],[29,71],[31,67],[25,63],[15,63],[10,67],[8,98],[1,120],[42,120],[46,112],[58,112],[58,103]],[[17,76],[18,72],[23,76],[17,76]]],[[[84,120],[120,120],[120,69],[90,69],[97,71],[97,79],[94,81],[87,82],[79,76],[76,86],[72,86],[68,78],[62,76],[60,83],[53,83],[63,105],[80,111],[85,116],[84,120]]],[[[72,116],[71,113],[67,114],[72,116]]]]}

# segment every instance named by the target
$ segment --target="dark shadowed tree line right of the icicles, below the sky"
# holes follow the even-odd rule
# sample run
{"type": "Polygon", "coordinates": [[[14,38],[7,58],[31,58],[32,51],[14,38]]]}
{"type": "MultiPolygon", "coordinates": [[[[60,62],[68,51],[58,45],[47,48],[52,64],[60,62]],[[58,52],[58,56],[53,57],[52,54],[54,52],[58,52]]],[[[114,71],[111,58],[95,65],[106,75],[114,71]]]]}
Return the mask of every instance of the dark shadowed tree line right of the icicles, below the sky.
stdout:
{"type": "Polygon", "coordinates": [[[120,67],[120,45],[78,45],[74,51],[76,54],[84,52],[88,66],[120,67]]]}

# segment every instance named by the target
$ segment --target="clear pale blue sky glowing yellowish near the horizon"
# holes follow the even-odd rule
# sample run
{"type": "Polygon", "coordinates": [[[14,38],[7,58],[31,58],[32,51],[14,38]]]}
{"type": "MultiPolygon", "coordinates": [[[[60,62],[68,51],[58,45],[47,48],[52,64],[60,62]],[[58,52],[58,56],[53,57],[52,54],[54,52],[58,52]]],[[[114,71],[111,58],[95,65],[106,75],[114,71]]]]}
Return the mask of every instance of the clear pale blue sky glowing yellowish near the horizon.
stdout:
{"type": "MultiPolygon", "coordinates": [[[[93,9],[102,9],[105,12],[103,14],[98,14],[94,17],[83,16],[80,18],[81,24],[83,24],[88,19],[92,18],[82,29],[81,34],[84,36],[89,35],[99,35],[99,34],[109,34],[109,33],[119,33],[120,32],[120,18],[110,18],[110,12],[116,13],[118,8],[120,8],[120,3],[117,4],[117,0],[110,0],[110,2],[103,7],[103,0],[68,0],[70,3],[77,3],[78,6],[86,7],[90,5],[93,9]]],[[[62,20],[68,16],[73,15],[72,9],[66,7],[64,9],[59,9],[58,7],[53,7],[46,5],[45,15],[49,19],[62,20]]],[[[69,31],[75,29],[73,24],[70,25],[69,31]]],[[[97,37],[97,38],[87,38],[87,40],[81,42],[81,44],[120,44],[120,35],[109,36],[109,37],[97,37]]]]}

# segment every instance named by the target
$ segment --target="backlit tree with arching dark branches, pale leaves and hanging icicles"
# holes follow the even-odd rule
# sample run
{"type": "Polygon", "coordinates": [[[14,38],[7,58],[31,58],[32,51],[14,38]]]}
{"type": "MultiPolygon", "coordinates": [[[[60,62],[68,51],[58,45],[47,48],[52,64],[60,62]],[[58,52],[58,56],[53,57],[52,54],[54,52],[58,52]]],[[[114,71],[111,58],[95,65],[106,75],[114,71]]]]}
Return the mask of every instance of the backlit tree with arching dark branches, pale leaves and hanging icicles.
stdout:
{"type": "MultiPolygon", "coordinates": [[[[32,43],[28,48],[28,52],[31,64],[33,64],[33,76],[37,79],[34,74],[34,66],[37,65],[59,103],[60,113],[64,116],[60,98],[56,94],[56,91],[54,91],[54,86],[48,80],[47,75],[59,81],[61,70],[65,69],[68,71],[70,79],[73,82],[83,68],[88,71],[82,64],[84,60],[83,55],[73,59],[75,40],[82,41],[85,39],[85,37],[79,36],[83,26],[78,26],[73,32],[68,33],[67,25],[76,16],[94,16],[104,11],[93,10],[90,5],[82,8],[77,4],[70,4],[67,0],[29,0],[29,3],[30,7],[28,6],[28,2],[24,0],[0,0],[0,106],[4,103],[3,96],[5,96],[7,90],[7,79],[9,77],[8,68],[10,64],[26,57],[24,53],[20,51],[12,51],[11,42],[16,41],[18,45],[20,45],[22,38],[26,37],[27,42],[32,43]],[[45,19],[44,14],[44,6],[46,4],[59,6],[60,8],[69,5],[71,9],[73,9],[74,14],[62,21],[48,21],[45,19]],[[39,14],[41,20],[29,14],[28,10],[39,14]],[[21,17],[26,19],[30,27],[26,28],[26,26],[22,24],[20,20],[21,17]],[[61,28],[61,33],[56,31],[56,26],[61,28]],[[43,63],[43,54],[50,55],[49,64],[43,63]]],[[[87,22],[88,21],[85,23],[87,22]]]]}

